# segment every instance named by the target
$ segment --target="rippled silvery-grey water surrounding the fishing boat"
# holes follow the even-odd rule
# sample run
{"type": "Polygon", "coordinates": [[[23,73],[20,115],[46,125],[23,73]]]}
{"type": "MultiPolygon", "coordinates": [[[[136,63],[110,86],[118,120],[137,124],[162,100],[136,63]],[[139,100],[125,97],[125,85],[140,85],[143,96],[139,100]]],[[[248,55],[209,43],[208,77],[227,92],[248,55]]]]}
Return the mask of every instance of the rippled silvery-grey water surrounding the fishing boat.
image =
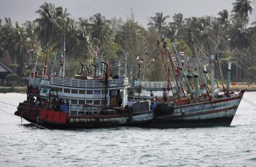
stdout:
{"type": "MultiPolygon", "coordinates": [[[[256,92],[244,97],[256,104],[256,92]]],[[[49,131],[13,116],[25,99],[0,94],[0,166],[256,166],[256,108],[245,101],[230,127],[49,131]]]]}

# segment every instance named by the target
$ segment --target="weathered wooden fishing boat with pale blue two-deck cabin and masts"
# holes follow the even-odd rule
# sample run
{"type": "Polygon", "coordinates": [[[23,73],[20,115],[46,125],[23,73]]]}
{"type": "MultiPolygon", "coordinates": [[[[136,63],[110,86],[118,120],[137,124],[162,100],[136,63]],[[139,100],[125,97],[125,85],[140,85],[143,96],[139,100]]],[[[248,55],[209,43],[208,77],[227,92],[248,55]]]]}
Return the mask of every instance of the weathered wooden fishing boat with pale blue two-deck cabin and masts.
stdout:
{"type": "MultiPolygon", "coordinates": [[[[198,74],[195,70],[194,90],[188,88],[187,93],[185,85],[190,86],[189,77],[181,61],[179,60],[178,65],[183,75],[175,70],[176,66],[172,61],[174,55],[171,55],[164,40],[158,41],[158,48],[162,57],[164,53],[170,57],[170,64],[176,76],[174,81],[168,79],[167,84],[163,86],[171,90],[168,100],[137,98],[130,101],[128,98],[130,84],[126,74],[110,78],[110,67],[102,62],[103,76],[96,76],[95,70],[93,76],[92,73],[86,75],[79,73],[75,78],[63,75],[38,77],[34,71],[29,79],[27,99],[20,103],[15,115],[38,125],[67,128],[116,126],[178,128],[230,125],[245,92],[244,90],[238,94],[229,92],[230,65],[226,91],[224,94],[214,94],[216,59],[212,55],[210,59],[212,90],[205,85],[202,88],[205,94],[199,96],[197,79],[202,77],[201,80],[205,81],[203,77],[205,69],[201,70],[202,74],[198,74]]],[[[144,88],[141,91],[148,91],[151,89],[150,84],[153,88],[158,88],[153,82],[148,84],[140,82],[138,86],[144,88]]],[[[158,89],[162,89],[161,87],[158,89]]],[[[145,94],[148,95],[148,92],[145,94]]]]}

